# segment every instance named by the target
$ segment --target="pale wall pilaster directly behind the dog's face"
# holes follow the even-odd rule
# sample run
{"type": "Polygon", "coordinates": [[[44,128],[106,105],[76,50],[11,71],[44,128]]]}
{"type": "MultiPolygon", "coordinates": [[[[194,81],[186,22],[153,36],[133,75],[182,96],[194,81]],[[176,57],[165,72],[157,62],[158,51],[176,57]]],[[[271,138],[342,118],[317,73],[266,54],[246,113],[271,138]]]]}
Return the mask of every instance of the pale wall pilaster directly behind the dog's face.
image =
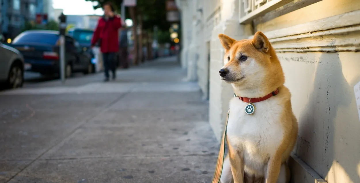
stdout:
{"type": "Polygon", "coordinates": [[[229,100],[233,97],[234,93],[231,85],[221,81],[219,76],[219,70],[224,65],[225,50],[220,43],[218,35],[226,34],[234,39],[244,39],[252,34],[250,25],[240,25],[238,23],[238,14],[239,1],[222,1],[221,22],[213,28],[211,35],[209,121],[219,141],[225,127],[229,100]]]}

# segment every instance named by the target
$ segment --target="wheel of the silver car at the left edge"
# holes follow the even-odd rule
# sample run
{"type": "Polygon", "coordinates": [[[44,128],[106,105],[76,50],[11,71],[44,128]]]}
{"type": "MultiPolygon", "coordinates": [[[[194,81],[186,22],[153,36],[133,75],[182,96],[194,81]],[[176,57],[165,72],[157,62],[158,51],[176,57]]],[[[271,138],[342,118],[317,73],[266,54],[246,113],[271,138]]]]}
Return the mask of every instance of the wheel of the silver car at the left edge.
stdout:
{"type": "Polygon", "coordinates": [[[14,63],[9,71],[8,88],[21,88],[24,83],[24,71],[21,64],[14,63]]]}

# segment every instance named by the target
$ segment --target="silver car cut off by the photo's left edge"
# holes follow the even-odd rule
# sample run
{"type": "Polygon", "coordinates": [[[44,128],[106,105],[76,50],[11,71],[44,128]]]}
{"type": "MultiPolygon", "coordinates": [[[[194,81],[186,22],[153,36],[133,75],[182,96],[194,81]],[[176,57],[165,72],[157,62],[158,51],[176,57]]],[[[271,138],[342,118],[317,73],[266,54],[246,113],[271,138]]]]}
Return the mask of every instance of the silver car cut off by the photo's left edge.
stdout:
{"type": "Polygon", "coordinates": [[[3,44],[4,41],[4,36],[0,35],[0,82],[6,88],[21,88],[24,82],[23,56],[18,50],[3,44]]]}

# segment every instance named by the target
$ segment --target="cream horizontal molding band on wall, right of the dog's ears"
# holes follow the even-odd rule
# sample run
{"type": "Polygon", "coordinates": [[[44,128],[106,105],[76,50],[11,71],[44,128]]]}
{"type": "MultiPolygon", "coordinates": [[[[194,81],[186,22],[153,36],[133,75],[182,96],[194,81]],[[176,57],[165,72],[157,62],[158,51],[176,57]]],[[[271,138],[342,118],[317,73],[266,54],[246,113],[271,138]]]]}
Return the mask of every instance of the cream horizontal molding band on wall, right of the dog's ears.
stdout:
{"type": "Polygon", "coordinates": [[[358,52],[359,17],[356,10],[264,34],[276,52],[358,52]]]}

